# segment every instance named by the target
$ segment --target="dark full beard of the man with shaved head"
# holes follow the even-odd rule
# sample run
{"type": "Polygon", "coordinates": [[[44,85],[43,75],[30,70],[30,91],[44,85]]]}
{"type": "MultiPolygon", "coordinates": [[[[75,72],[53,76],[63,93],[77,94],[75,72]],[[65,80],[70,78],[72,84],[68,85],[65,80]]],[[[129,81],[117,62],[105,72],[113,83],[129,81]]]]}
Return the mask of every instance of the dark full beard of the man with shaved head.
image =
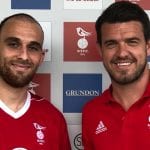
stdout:
{"type": "MultiPolygon", "coordinates": [[[[33,79],[34,74],[35,74],[35,72],[37,70],[37,66],[34,67],[32,72],[30,72],[30,74],[24,75],[22,72],[19,72],[19,71],[17,73],[14,73],[10,69],[9,63],[8,63],[8,61],[6,59],[4,59],[3,65],[0,64],[0,76],[1,76],[1,78],[7,84],[9,84],[10,86],[15,87],[15,88],[20,88],[20,87],[27,86],[30,83],[30,81],[33,79]]],[[[28,64],[30,64],[30,66],[32,68],[34,66],[32,63],[29,63],[29,62],[23,61],[23,60],[19,60],[19,63],[23,63],[23,64],[28,63],[28,64]]]]}

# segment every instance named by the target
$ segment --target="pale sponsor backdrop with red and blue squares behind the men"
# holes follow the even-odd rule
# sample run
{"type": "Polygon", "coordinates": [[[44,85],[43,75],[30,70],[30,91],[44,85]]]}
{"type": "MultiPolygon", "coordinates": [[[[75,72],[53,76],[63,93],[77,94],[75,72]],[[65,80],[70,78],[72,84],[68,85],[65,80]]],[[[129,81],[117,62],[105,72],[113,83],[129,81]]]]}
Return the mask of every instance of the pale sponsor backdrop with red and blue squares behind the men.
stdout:
{"type": "MultiPolygon", "coordinates": [[[[115,0],[0,1],[1,20],[20,12],[32,15],[42,25],[47,53],[29,90],[49,99],[64,114],[72,150],[83,150],[82,107],[110,84],[97,50],[94,23],[115,0]]],[[[149,0],[129,1],[150,15],[149,0]]]]}

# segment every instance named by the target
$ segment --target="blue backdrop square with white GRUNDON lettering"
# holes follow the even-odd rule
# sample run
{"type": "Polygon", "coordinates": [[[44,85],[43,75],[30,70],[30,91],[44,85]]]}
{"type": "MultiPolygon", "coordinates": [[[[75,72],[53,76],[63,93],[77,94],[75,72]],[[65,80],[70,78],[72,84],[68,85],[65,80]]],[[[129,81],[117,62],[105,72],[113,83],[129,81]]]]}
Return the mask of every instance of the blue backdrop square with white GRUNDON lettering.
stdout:
{"type": "Polygon", "coordinates": [[[63,112],[81,113],[82,107],[102,93],[102,74],[64,74],[63,112]]]}

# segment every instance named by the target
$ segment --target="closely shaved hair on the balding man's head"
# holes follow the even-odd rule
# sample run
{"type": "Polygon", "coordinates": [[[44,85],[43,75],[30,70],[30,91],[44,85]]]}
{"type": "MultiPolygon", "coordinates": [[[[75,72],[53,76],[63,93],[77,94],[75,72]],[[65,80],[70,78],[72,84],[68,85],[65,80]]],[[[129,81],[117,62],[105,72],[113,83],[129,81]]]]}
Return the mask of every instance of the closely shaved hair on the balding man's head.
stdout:
{"type": "MultiPolygon", "coordinates": [[[[8,17],[4,18],[4,20],[2,20],[1,23],[0,23],[0,32],[3,28],[3,26],[5,25],[5,23],[8,20],[11,20],[11,19],[29,21],[31,23],[38,24],[39,27],[41,28],[42,32],[43,32],[43,29],[42,29],[41,25],[39,24],[39,22],[34,17],[32,17],[31,15],[25,14],[25,13],[17,13],[17,14],[13,14],[11,16],[8,16],[8,17]]],[[[43,32],[43,34],[44,34],[44,32],[43,32]]]]}

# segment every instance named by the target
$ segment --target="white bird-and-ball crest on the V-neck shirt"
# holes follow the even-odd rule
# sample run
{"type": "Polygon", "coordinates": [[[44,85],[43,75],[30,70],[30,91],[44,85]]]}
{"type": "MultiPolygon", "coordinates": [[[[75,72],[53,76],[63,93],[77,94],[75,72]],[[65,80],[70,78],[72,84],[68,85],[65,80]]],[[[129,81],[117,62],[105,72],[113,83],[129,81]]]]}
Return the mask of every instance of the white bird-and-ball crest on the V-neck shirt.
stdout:
{"type": "Polygon", "coordinates": [[[46,129],[46,127],[41,126],[38,123],[33,123],[34,128],[36,129],[36,137],[37,137],[37,142],[40,145],[43,145],[45,143],[45,135],[44,135],[44,130],[46,129]]]}

